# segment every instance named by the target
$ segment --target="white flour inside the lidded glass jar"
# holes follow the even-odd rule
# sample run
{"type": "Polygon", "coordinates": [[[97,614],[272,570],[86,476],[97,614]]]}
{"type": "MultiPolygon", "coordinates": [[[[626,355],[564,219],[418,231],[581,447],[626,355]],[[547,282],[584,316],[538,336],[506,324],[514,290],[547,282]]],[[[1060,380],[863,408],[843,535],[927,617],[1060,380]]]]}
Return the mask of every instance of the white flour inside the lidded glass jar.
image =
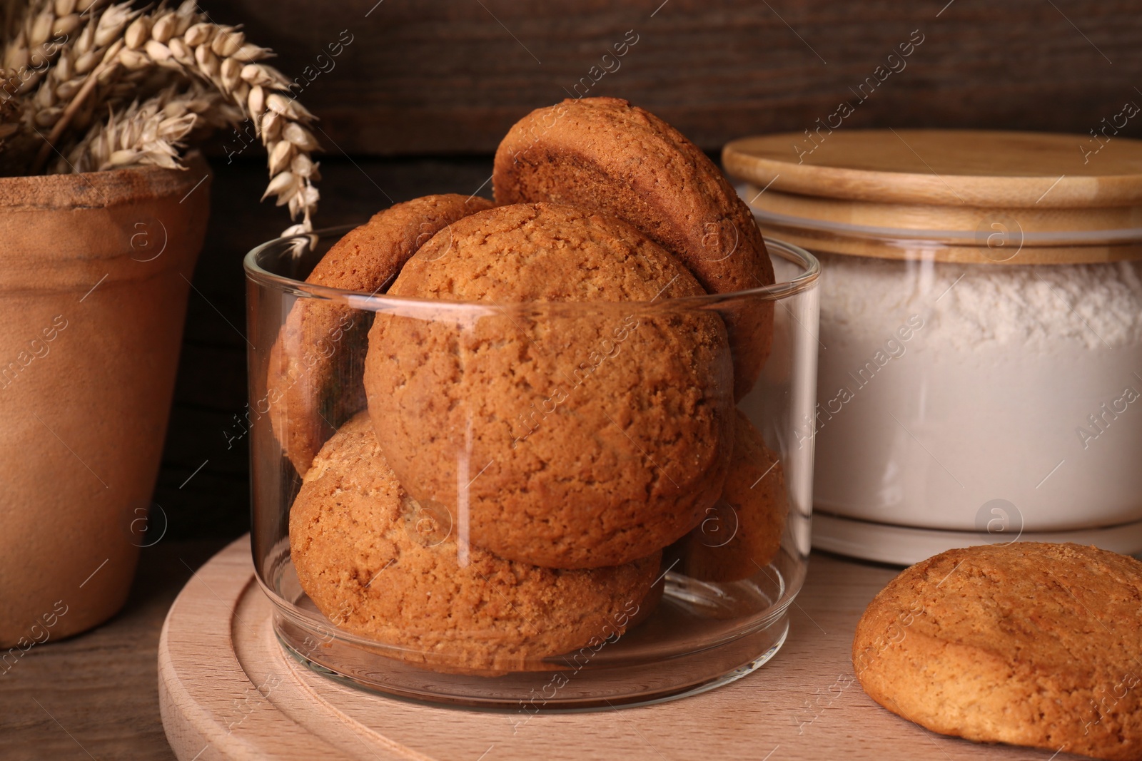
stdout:
{"type": "Polygon", "coordinates": [[[1026,532],[1142,519],[1142,262],[821,264],[819,509],[959,531],[984,531],[992,500],[1026,532]]]}

